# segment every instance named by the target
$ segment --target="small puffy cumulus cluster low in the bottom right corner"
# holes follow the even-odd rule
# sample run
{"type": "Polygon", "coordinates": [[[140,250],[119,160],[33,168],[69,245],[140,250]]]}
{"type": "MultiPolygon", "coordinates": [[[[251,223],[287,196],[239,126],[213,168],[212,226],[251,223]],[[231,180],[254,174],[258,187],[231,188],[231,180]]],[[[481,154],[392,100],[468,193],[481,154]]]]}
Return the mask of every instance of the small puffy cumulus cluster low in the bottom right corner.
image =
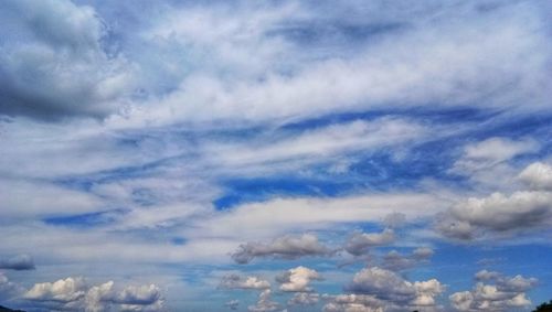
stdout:
{"type": "Polygon", "coordinates": [[[498,272],[479,271],[470,291],[449,295],[450,304],[457,311],[507,311],[526,308],[531,301],[526,292],[537,284],[537,279],[522,276],[505,277],[498,272]],[[485,283],[490,282],[490,283],[485,283]]]}

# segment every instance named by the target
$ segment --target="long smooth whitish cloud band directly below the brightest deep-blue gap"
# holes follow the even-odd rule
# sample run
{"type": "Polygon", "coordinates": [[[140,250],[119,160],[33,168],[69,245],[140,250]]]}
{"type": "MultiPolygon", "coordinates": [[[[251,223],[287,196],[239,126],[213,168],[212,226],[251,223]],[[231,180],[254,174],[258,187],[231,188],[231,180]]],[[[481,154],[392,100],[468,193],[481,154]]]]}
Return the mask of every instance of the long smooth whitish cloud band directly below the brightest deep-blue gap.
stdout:
{"type": "Polygon", "coordinates": [[[289,232],[331,228],[337,224],[381,222],[390,211],[408,217],[432,216],[449,205],[435,194],[375,193],[343,197],[277,197],[245,203],[197,223],[189,236],[274,237],[289,232]]]}

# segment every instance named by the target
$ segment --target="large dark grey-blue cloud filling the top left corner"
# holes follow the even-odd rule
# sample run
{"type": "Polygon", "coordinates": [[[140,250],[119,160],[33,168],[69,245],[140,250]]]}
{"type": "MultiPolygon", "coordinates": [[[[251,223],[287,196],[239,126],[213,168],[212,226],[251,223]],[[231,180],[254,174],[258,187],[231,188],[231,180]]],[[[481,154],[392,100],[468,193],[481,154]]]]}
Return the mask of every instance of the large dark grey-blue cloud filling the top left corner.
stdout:
{"type": "Polygon", "coordinates": [[[0,114],[41,119],[103,117],[132,85],[132,66],[105,46],[107,29],[92,7],[68,0],[8,1],[0,56],[0,114]],[[19,17],[19,18],[13,18],[19,17]]]}

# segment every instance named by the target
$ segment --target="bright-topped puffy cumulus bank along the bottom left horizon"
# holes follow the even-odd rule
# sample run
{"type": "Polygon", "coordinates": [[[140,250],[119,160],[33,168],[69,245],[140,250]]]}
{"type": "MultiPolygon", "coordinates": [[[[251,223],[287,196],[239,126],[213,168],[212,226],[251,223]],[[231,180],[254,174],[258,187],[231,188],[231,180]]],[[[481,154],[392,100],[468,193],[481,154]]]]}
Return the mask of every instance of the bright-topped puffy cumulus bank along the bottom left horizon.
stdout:
{"type": "Polygon", "coordinates": [[[159,287],[128,286],[121,290],[108,281],[89,287],[83,278],[66,278],[34,284],[23,297],[40,306],[66,311],[99,312],[116,305],[120,311],[161,311],[159,287]]]}

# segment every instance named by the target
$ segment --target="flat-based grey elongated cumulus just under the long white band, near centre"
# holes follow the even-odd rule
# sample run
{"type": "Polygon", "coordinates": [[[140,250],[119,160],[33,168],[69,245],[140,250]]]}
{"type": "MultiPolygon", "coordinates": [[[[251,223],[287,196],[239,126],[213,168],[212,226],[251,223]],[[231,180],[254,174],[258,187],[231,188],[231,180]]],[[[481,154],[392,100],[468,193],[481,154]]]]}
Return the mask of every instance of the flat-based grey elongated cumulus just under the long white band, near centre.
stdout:
{"type": "Polygon", "coordinates": [[[327,256],[332,251],[318,241],[312,234],[300,236],[286,235],[270,243],[242,244],[231,257],[237,263],[248,263],[256,257],[278,257],[284,259],[296,259],[306,256],[327,256]]]}

